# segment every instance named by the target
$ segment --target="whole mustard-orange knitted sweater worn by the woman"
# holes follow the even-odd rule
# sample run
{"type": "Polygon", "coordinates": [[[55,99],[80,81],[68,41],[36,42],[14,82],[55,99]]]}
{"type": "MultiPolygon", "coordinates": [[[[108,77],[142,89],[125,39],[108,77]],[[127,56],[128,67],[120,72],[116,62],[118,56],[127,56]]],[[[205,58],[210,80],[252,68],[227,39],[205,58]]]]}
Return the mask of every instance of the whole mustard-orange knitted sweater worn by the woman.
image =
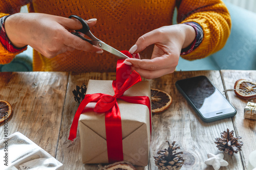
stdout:
{"type": "MultiPolygon", "coordinates": [[[[196,50],[182,56],[188,60],[200,59],[220,50],[231,27],[229,13],[220,0],[0,0],[0,17],[19,12],[23,5],[28,5],[29,12],[97,18],[91,32],[117,50],[129,50],[141,35],[172,25],[174,9],[177,7],[179,23],[197,22],[204,32],[203,41],[196,50]]],[[[140,56],[150,58],[152,51],[153,45],[147,47],[140,56]]],[[[0,44],[0,64],[9,63],[15,55],[0,44]]],[[[34,51],[33,70],[115,71],[117,59],[108,52],[92,54],[78,50],[48,59],[34,51]]]]}

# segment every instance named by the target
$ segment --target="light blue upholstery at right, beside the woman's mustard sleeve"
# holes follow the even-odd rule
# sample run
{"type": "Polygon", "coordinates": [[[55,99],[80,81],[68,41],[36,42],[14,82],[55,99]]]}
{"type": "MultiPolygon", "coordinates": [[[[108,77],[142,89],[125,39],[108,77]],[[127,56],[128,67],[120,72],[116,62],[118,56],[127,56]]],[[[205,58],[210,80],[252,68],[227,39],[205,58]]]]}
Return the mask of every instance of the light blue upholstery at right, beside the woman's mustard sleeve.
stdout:
{"type": "Polygon", "coordinates": [[[232,20],[225,46],[211,57],[221,69],[256,69],[256,13],[225,2],[232,20]]]}

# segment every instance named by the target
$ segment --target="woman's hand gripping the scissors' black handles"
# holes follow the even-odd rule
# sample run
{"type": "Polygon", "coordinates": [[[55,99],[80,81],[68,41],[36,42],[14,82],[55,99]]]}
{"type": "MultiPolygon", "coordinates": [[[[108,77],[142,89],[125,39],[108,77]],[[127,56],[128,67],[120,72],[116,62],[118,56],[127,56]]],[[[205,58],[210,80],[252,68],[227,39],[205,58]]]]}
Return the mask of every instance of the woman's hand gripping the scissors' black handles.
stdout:
{"type": "MultiPolygon", "coordinates": [[[[96,21],[97,19],[89,19],[87,23],[91,28],[96,21]]],[[[16,13],[5,21],[5,30],[13,45],[30,45],[47,58],[74,49],[102,53],[101,48],[69,32],[81,28],[77,19],[41,13],[16,13]]]]}

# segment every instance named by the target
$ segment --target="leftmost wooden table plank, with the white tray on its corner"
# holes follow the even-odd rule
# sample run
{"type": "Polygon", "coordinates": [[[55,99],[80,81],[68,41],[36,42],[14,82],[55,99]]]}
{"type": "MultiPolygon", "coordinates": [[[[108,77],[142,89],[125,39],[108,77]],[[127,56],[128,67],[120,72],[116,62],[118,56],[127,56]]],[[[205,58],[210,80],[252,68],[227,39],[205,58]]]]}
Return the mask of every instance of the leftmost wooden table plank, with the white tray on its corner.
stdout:
{"type": "MultiPolygon", "coordinates": [[[[68,74],[0,72],[0,100],[13,107],[9,135],[19,131],[55,157],[68,74]]],[[[3,127],[1,124],[1,139],[3,127]]]]}

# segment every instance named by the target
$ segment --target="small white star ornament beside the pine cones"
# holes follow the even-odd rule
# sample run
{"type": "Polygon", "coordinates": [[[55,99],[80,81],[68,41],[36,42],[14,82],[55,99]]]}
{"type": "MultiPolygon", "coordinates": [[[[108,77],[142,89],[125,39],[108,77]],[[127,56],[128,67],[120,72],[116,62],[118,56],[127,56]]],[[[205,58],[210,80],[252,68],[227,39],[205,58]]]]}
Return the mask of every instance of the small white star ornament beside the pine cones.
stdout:
{"type": "Polygon", "coordinates": [[[223,159],[224,155],[222,153],[217,155],[208,153],[207,157],[208,159],[204,163],[207,165],[212,165],[212,167],[214,167],[215,170],[220,169],[221,166],[228,165],[228,162],[223,159]]]}

